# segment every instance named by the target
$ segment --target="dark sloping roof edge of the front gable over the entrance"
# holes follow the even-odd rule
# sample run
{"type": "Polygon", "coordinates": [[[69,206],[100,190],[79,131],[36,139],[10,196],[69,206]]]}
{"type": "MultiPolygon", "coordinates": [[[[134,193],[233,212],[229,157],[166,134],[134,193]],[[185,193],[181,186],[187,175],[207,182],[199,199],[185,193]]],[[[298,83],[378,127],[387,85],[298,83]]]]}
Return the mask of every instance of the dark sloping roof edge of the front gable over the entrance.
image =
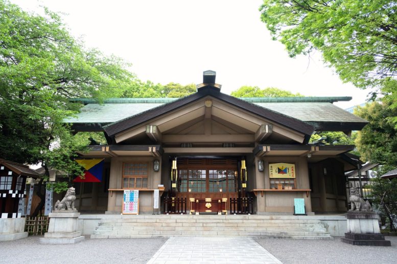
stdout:
{"type": "Polygon", "coordinates": [[[164,115],[171,111],[182,108],[184,105],[197,101],[208,95],[255,115],[266,118],[272,122],[289,127],[295,131],[299,131],[300,133],[303,133],[305,135],[311,135],[313,133],[314,127],[306,122],[272,111],[267,108],[260,107],[259,105],[249,103],[239,98],[220,93],[219,87],[211,84],[200,86],[198,88],[198,91],[192,95],[185,96],[183,98],[166,103],[164,105],[160,105],[159,107],[150,109],[143,113],[139,113],[134,116],[109,124],[104,127],[104,130],[106,131],[108,136],[112,137],[115,134],[121,133],[126,129],[147,122],[157,116],[164,115]]]}

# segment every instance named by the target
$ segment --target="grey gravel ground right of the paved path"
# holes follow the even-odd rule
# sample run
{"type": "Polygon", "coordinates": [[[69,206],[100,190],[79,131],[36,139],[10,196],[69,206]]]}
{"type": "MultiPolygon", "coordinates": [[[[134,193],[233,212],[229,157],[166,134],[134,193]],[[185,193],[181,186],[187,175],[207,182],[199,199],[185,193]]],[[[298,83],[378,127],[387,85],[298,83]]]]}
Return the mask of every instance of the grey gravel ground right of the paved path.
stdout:
{"type": "Polygon", "coordinates": [[[334,240],[291,240],[255,238],[262,247],[284,264],[343,263],[383,264],[397,263],[397,236],[385,236],[391,247],[353,246],[334,240]]]}

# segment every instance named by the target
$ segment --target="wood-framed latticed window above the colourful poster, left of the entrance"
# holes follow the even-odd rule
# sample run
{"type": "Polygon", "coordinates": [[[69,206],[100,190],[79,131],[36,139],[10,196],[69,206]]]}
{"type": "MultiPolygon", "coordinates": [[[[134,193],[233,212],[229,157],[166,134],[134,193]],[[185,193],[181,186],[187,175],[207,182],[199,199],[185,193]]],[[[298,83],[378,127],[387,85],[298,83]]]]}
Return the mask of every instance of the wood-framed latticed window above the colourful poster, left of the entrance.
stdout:
{"type": "Polygon", "coordinates": [[[148,163],[129,162],[123,164],[123,189],[148,188],[148,163]]]}

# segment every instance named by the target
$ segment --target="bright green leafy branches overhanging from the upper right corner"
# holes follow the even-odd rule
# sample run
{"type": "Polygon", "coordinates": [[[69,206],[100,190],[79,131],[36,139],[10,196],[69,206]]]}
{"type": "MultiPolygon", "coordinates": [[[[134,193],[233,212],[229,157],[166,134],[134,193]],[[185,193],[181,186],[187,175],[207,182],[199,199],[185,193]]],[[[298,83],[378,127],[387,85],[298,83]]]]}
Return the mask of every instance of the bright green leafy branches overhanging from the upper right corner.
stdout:
{"type": "MultiPolygon", "coordinates": [[[[397,4],[391,0],[264,0],[262,21],[291,57],[322,53],[344,82],[397,108],[397,4]]],[[[397,117],[393,117],[397,122],[397,117]]]]}

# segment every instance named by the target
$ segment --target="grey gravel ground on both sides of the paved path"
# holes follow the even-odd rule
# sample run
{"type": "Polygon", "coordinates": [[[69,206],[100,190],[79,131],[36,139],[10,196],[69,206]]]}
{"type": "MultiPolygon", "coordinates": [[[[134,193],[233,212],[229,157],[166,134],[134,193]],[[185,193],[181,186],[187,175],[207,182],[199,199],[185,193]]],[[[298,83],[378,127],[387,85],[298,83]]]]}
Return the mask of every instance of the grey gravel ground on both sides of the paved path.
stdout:
{"type": "MultiPolygon", "coordinates": [[[[0,242],[0,263],[146,263],[168,240],[89,239],[72,245],[42,245],[41,236],[0,242]]],[[[397,237],[386,236],[391,247],[352,246],[335,240],[290,240],[255,238],[284,264],[343,263],[373,264],[397,262],[397,237]]]]}

